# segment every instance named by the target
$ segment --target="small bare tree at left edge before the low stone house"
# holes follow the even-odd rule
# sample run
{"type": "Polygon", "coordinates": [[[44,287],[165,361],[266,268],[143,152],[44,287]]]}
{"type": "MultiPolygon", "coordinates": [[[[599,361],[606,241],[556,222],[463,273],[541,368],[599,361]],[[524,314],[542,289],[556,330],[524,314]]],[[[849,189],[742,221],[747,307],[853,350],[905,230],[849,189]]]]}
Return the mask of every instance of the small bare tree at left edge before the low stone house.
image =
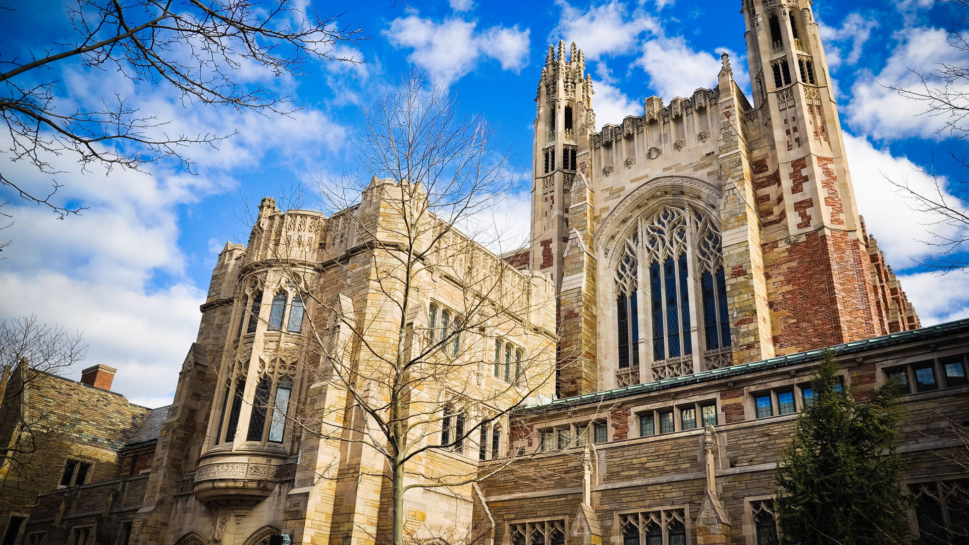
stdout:
{"type": "Polygon", "coordinates": [[[75,416],[37,402],[53,376],[84,359],[81,337],[30,315],[0,322],[0,509],[34,505],[75,416]]]}

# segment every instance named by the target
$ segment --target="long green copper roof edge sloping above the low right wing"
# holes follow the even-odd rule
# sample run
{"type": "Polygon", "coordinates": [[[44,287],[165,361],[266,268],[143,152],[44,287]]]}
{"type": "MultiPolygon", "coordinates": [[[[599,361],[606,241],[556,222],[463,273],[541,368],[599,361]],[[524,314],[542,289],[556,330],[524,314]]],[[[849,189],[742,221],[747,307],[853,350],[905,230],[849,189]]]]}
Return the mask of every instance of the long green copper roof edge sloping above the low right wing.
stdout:
{"type": "Polygon", "coordinates": [[[851,354],[857,354],[859,352],[866,352],[868,350],[877,350],[879,348],[887,348],[910,342],[919,342],[937,337],[946,337],[959,333],[969,333],[969,318],[938,324],[935,326],[922,328],[920,330],[893,333],[882,337],[872,337],[864,340],[856,340],[854,342],[835,344],[834,346],[830,346],[828,348],[808,350],[807,352],[799,352],[797,354],[791,354],[790,356],[778,356],[776,358],[749,362],[746,364],[740,364],[738,366],[731,366],[729,368],[704,370],[693,374],[686,374],[673,378],[664,378],[663,380],[654,380],[652,382],[646,382],[643,384],[634,384],[633,386],[625,386],[623,388],[606,390],[604,392],[594,392],[592,394],[583,394],[581,396],[573,396],[571,398],[562,398],[560,400],[549,401],[539,405],[524,407],[517,410],[516,413],[528,414],[532,412],[545,412],[559,407],[574,407],[586,403],[598,403],[602,401],[628,398],[639,394],[645,394],[647,392],[656,392],[675,388],[677,386],[684,386],[687,384],[697,384],[700,382],[717,380],[729,376],[743,375],[757,370],[786,368],[789,366],[816,362],[824,356],[824,353],[827,350],[833,351],[835,357],[843,357],[851,354]]]}

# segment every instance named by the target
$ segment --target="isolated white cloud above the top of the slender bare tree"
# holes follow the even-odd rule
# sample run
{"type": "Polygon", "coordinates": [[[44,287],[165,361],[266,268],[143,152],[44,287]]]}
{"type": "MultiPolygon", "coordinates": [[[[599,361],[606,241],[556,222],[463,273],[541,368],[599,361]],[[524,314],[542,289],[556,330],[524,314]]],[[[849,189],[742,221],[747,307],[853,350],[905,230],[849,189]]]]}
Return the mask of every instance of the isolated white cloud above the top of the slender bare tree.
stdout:
{"type": "Polygon", "coordinates": [[[414,49],[407,58],[444,84],[471,72],[481,57],[493,58],[516,73],[528,63],[529,29],[492,26],[477,32],[476,26],[457,17],[436,23],[407,16],[391,21],[389,38],[396,48],[414,49]]]}

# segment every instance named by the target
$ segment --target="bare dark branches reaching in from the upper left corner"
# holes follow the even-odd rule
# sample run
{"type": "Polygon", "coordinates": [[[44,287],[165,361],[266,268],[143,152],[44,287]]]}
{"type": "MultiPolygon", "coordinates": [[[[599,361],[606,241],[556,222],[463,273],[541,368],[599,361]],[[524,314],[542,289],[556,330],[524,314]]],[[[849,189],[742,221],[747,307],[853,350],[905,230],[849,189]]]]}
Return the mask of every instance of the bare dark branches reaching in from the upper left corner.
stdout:
{"type": "Polygon", "coordinates": [[[293,111],[286,97],[244,83],[240,71],[261,68],[279,77],[300,74],[311,59],[358,62],[334,48],[365,39],[359,27],[340,26],[336,16],[319,16],[293,0],[76,1],[69,11],[73,33],[64,43],[30,58],[0,60],[0,116],[11,140],[4,155],[53,178],[41,193],[3,172],[0,184],[60,217],[81,208],[53,200],[62,184],[51,156],[74,156],[81,169],[94,163],[141,169],[163,158],[191,167],[186,147],[228,135],[170,134],[170,120],[140,112],[120,94],[101,108],[78,110],[58,93],[59,64],[78,62],[167,86],[183,102],[286,114],[293,111]]]}

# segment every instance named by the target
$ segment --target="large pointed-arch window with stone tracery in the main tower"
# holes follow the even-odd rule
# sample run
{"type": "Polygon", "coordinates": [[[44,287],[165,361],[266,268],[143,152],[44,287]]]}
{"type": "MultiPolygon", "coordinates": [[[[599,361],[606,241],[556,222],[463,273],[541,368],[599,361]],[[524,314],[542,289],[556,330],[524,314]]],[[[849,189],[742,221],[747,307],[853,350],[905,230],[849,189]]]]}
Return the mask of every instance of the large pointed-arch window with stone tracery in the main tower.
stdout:
{"type": "Polygon", "coordinates": [[[723,250],[713,217],[690,205],[666,206],[642,217],[622,244],[613,261],[617,385],[640,382],[641,319],[649,322],[653,379],[693,372],[698,350],[702,369],[731,365],[723,250]]]}

